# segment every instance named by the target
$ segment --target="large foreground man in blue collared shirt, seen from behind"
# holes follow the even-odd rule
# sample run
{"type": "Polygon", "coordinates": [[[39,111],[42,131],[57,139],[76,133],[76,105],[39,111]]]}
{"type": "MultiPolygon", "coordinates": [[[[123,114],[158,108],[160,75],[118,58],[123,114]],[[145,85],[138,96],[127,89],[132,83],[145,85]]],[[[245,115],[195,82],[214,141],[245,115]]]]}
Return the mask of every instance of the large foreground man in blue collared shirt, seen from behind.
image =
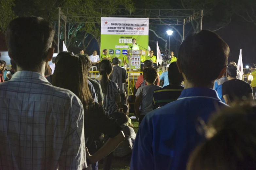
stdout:
{"type": "Polygon", "coordinates": [[[177,101],[151,111],[136,136],[130,170],[185,170],[188,157],[204,140],[201,122],[227,106],[213,90],[227,69],[229,46],[215,33],[200,31],[181,44],[177,60],[185,86],[177,101]],[[205,70],[211,70],[205,72],[205,70]]]}

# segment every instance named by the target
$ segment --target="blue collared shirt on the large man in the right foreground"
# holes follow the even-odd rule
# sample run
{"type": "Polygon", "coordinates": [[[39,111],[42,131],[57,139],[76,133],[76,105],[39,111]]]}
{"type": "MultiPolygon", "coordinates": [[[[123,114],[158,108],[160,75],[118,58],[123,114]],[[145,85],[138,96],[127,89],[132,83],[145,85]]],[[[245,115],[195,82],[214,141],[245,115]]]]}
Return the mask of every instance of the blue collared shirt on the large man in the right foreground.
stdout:
{"type": "Polygon", "coordinates": [[[204,140],[196,128],[217,109],[227,106],[215,90],[189,88],[177,101],[151,111],[136,136],[130,170],[185,170],[190,153],[204,140]]]}

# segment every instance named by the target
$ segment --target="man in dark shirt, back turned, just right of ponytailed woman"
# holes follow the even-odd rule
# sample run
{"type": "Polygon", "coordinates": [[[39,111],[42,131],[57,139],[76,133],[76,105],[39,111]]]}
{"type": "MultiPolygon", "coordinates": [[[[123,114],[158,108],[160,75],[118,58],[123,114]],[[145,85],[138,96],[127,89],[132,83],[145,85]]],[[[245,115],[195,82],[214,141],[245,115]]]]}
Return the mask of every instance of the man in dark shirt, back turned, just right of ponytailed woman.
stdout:
{"type": "Polygon", "coordinates": [[[117,57],[112,59],[112,63],[113,63],[113,72],[110,75],[109,79],[111,81],[116,82],[116,84],[119,87],[120,95],[121,95],[121,102],[119,104],[120,105],[127,104],[124,83],[128,82],[128,75],[126,73],[126,70],[119,66],[119,60],[117,57]]]}

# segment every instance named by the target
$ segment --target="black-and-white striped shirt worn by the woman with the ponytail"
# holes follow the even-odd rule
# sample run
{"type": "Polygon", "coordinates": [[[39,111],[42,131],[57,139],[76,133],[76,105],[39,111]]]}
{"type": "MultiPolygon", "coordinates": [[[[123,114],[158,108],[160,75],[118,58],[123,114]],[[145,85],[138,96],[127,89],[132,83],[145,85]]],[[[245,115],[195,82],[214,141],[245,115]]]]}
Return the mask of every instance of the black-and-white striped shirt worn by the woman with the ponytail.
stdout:
{"type": "MultiPolygon", "coordinates": [[[[101,80],[97,80],[97,79],[94,79],[94,80],[100,83],[101,85],[101,80]]],[[[108,115],[111,115],[117,111],[115,97],[118,96],[119,94],[120,92],[119,92],[118,85],[115,82],[109,80],[107,94],[103,94],[104,95],[103,108],[108,115]]]]}

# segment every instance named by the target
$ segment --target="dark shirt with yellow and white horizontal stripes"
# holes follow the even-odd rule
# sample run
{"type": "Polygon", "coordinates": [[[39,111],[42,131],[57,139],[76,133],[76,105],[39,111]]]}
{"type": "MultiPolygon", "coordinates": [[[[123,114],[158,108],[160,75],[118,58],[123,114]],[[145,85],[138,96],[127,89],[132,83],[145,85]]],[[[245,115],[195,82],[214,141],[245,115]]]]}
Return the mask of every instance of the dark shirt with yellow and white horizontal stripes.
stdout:
{"type": "Polygon", "coordinates": [[[183,86],[177,85],[168,85],[161,89],[156,89],[153,94],[153,108],[156,109],[170,102],[176,101],[183,89],[183,86]]]}

